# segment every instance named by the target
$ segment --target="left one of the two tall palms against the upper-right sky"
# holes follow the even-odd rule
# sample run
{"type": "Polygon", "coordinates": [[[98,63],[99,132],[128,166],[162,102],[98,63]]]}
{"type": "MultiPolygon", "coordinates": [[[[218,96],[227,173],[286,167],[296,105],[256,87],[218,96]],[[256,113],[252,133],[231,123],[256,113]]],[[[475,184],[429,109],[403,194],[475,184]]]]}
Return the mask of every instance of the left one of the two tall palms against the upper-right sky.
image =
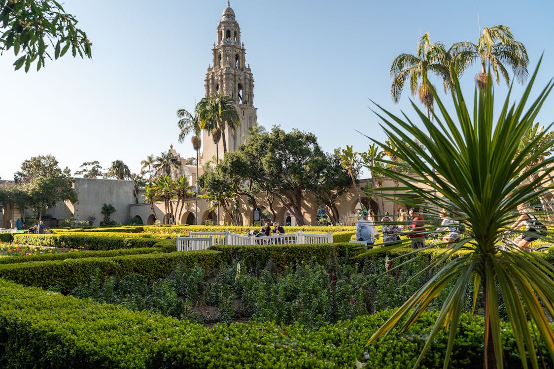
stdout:
{"type": "Polygon", "coordinates": [[[446,52],[444,44],[435,42],[431,44],[429,33],[419,38],[417,54],[400,54],[392,61],[391,65],[391,95],[397,103],[400,100],[404,83],[409,80],[412,96],[418,93],[419,100],[427,108],[427,118],[433,110],[433,93],[429,85],[429,74],[442,77],[444,90],[450,86],[449,72],[450,55],[446,52]],[[421,81],[421,82],[419,82],[421,81]]]}

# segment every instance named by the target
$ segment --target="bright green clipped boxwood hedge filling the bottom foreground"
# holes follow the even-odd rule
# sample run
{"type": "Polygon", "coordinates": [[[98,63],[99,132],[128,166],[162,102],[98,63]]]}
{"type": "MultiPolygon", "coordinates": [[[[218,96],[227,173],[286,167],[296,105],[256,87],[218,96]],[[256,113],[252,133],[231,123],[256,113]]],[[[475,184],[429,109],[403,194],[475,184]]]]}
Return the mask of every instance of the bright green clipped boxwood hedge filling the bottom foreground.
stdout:
{"type": "MultiPolygon", "coordinates": [[[[150,312],[64,297],[0,280],[0,367],[40,368],[353,368],[412,367],[437,316],[424,313],[405,334],[364,346],[391,311],[317,331],[274,323],[204,328],[150,312]]],[[[511,328],[502,324],[507,367],[521,367],[511,328]]],[[[440,331],[422,368],[442,367],[440,331]]],[[[545,344],[541,350],[547,352],[545,344]]],[[[450,368],[483,363],[483,318],[464,314],[450,368]]],[[[532,353],[537,355],[537,353],[532,353]]],[[[550,357],[546,367],[552,367],[550,357]]]]}

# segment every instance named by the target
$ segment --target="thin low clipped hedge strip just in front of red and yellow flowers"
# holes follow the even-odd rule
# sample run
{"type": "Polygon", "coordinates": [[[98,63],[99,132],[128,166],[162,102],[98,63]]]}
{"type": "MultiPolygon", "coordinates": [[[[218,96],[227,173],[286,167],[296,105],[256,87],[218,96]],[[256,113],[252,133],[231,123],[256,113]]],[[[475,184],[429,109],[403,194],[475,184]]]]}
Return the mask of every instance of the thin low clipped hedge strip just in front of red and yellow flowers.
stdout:
{"type": "Polygon", "coordinates": [[[158,248],[158,247],[127,248],[127,249],[123,248],[123,249],[109,250],[109,251],[80,251],[80,252],[27,255],[27,256],[11,256],[6,258],[0,258],[0,264],[27,263],[32,261],[81,259],[81,258],[90,258],[90,257],[112,257],[112,256],[121,256],[121,255],[150,254],[154,252],[162,252],[162,248],[158,248]]]}

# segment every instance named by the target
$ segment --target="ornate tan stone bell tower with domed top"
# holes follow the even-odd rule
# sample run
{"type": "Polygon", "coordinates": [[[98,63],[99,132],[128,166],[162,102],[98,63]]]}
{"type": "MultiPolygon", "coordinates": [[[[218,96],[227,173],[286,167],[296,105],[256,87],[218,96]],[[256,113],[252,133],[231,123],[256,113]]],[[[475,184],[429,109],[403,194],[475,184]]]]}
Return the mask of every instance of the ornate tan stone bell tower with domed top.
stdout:
{"type": "MultiPolygon", "coordinates": [[[[257,109],[254,101],[254,78],[250,65],[245,65],[244,43],[240,41],[240,27],[235,20],[235,12],[229,1],[223,11],[217,26],[217,44],[213,44],[213,66],[208,66],[204,87],[206,96],[219,91],[234,98],[240,116],[240,127],[235,133],[225,129],[227,150],[237,150],[244,143],[244,132],[247,132],[257,121],[257,109]]],[[[202,163],[211,160],[216,155],[216,145],[211,133],[204,131],[202,148],[202,163]]],[[[219,159],[223,158],[223,140],[219,141],[219,159]]]]}

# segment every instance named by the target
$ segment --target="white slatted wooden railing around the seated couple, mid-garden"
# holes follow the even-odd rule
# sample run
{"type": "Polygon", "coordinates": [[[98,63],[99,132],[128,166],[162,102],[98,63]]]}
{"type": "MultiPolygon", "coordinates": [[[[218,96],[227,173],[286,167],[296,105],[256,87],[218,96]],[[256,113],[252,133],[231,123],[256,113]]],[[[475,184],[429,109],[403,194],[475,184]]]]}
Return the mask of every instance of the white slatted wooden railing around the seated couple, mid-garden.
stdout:
{"type": "Polygon", "coordinates": [[[206,250],[213,245],[286,245],[293,243],[313,245],[314,243],[332,242],[332,233],[319,234],[297,231],[285,235],[243,236],[230,231],[190,232],[188,237],[177,236],[177,251],[206,250]]]}

